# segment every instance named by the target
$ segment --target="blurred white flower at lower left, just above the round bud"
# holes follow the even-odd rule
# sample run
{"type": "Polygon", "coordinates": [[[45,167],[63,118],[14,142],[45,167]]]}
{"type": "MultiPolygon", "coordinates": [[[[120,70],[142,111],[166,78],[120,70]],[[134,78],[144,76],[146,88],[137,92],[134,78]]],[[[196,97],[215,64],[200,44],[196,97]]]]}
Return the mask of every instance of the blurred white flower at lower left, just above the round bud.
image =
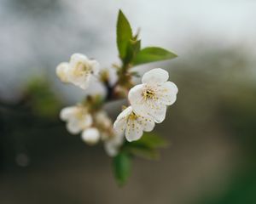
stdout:
{"type": "Polygon", "coordinates": [[[82,106],[70,106],[61,110],[61,120],[67,122],[69,133],[77,134],[92,124],[92,117],[82,106]]]}

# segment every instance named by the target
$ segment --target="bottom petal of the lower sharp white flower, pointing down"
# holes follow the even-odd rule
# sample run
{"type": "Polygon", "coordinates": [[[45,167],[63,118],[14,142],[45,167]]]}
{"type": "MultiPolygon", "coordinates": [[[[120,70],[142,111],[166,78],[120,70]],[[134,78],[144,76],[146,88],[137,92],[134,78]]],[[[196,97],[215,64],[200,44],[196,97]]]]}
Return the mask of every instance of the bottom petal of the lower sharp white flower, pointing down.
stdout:
{"type": "Polygon", "coordinates": [[[143,136],[143,127],[135,120],[129,120],[125,129],[125,138],[127,141],[135,141],[143,136]]]}

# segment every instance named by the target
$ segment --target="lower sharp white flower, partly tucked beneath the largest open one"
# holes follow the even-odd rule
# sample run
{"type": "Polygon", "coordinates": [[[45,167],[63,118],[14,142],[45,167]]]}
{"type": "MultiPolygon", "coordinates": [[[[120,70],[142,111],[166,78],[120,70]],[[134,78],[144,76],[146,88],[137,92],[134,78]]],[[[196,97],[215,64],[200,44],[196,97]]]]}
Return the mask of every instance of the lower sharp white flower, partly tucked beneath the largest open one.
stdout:
{"type": "Polygon", "coordinates": [[[150,132],[153,128],[154,118],[138,115],[131,106],[122,111],[113,123],[113,129],[116,133],[125,132],[125,138],[129,142],[140,139],[143,136],[143,131],[150,132]]]}

